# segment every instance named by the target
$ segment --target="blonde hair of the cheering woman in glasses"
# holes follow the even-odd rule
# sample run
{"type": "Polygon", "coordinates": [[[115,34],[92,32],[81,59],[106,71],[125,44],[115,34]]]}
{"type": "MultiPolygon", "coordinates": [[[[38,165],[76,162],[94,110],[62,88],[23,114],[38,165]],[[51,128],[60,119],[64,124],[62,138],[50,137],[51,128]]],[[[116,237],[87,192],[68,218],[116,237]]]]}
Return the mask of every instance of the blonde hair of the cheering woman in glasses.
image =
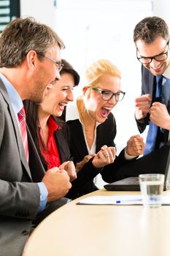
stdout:
{"type": "MultiPolygon", "coordinates": [[[[112,75],[117,78],[121,78],[120,70],[112,64],[111,61],[107,59],[99,59],[98,61],[94,61],[86,70],[85,70],[85,79],[87,81],[87,86],[96,87],[98,86],[98,80],[102,75],[112,75]]],[[[77,109],[80,114],[80,120],[83,122],[82,112],[85,112],[85,104],[84,104],[84,95],[80,95],[77,97],[77,109]]]]}

